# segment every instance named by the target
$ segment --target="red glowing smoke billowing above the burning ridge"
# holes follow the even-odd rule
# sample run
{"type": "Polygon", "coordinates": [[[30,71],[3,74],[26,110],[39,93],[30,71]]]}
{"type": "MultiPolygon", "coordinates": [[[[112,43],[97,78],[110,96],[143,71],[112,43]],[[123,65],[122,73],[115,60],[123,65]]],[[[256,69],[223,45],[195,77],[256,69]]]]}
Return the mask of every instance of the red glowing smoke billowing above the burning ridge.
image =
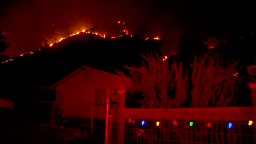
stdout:
{"type": "MultiPolygon", "coordinates": [[[[166,7],[161,9],[162,5],[165,5],[161,2],[139,0],[22,0],[22,2],[45,10],[17,1],[6,5],[3,10],[6,16],[1,17],[0,22],[2,30],[7,33],[5,37],[10,46],[7,53],[12,55],[24,51],[11,47],[37,50],[39,46],[62,38],[60,35],[70,35],[83,28],[94,27],[79,20],[96,23],[100,27],[97,29],[98,32],[115,36],[121,34],[123,29],[128,29],[131,34],[148,38],[159,36],[166,41],[178,43],[182,34],[182,29],[174,20],[172,12],[166,7]],[[125,23],[120,25],[118,21],[125,23]]],[[[174,49],[174,46],[167,47],[174,49]]]]}

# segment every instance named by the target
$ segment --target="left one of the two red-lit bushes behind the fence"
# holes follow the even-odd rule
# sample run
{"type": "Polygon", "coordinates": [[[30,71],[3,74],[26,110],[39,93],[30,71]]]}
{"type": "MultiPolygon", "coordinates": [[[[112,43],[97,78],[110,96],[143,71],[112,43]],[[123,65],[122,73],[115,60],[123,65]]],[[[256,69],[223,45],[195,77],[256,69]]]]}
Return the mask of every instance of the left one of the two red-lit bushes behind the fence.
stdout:
{"type": "Polygon", "coordinates": [[[163,61],[157,53],[142,55],[146,62],[138,67],[125,67],[130,76],[121,71],[117,73],[125,77],[127,92],[140,92],[142,99],[137,100],[142,108],[181,107],[185,103],[188,92],[188,73],[183,73],[182,63],[163,61]],[[155,58],[156,57],[156,58],[155,58]],[[170,92],[175,91],[175,94],[170,92]]]}

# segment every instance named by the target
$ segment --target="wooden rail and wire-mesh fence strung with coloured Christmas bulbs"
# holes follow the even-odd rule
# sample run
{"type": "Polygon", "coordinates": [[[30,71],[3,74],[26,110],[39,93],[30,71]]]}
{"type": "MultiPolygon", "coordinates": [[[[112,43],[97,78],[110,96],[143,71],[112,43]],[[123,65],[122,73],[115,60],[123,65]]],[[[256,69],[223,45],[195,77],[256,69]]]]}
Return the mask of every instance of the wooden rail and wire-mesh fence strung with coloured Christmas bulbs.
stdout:
{"type": "Polygon", "coordinates": [[[107,143],[255,143],[256,107],[112,111],[107,143]]]}

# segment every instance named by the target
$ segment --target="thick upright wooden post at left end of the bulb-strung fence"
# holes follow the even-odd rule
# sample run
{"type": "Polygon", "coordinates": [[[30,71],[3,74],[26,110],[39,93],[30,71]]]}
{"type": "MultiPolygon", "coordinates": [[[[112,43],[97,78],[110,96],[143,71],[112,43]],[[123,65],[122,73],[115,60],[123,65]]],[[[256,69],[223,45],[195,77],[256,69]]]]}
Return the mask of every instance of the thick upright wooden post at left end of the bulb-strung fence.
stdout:
{"type": "Polygon", "coordinates": [[[125,131],[125,119],[124,119],[124,109],[125,109],[125,90],[119,90],[118,93],[120,95],[119,101],[119,135],[118,135],[118,143],[124,144],[124,131],[125,131]]]}

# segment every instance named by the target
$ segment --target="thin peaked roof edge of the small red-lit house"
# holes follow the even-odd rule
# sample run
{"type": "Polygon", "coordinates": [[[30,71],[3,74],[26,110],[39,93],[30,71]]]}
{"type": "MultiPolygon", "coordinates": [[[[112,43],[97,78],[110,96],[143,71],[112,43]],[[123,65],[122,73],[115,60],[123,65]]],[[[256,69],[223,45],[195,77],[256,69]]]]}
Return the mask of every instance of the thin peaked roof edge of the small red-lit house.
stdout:
{"type": "Polygon", "coordinates": [[[80,67],[79,69],[75,70],[73,73],[71,73],[68,76],[64,77],[62,80],[60,80],[57,83],[55,83],[53,86],[50,86],[49,89],[55,89],[56,86],[60,85],[62,82],[65,82],[67,79],[71,78],[72,76],[74,76],[75,74],[79,73],[80,71],[82,71],[84,69],[92,69],[92,70],[96,70],[96,71],[99,71],[99,72],[104,73],[104,74],[108,74],[108,75],[111,75],[111,76],[114,76],[114,77],[118,77],[118,78],[124,79],[121,76],[110,74],[110,73],[107,73],[106,71],[98,70],[98,69],[91,68],[91,67],[88,67],[88,66],[84,65],[84,66],[80,67]]]}

